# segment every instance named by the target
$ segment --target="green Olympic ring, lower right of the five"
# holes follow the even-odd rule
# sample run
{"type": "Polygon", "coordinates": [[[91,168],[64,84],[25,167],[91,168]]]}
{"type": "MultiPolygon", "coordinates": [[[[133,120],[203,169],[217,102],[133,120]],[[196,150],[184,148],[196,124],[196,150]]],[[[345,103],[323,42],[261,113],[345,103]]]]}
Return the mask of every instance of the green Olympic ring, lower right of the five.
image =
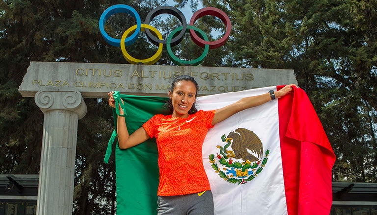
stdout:
{"type": "MultiPolygon", "coordinates": [[[[199,65],[200,63],[202,63],[204,61],[204,59],[206,58],[206,56],[208,54],[208,50],[209,50],[209,47],[210,47],[208,44],[206,44],[204,46],[204,52],[202,53],[202,55],[200,55],[197,59],[194,59],[194,60],[191,60],[191,61],[185,61],[185,60],[179,59],[177,56],[174,55],[173,50],[171,50],[171,40],[172,40],[173,37],[176,36],[176,34],[178,32],[180,32],[182,30],[182,28],[183,28],[183,26],[180,26],[180,27],[174,29],[173,31],[171,31],[171,33],[169,34],[169,37],[167,38],[167,42],[166,42],[167,56],[176,65],[180,65],[180,66],[184,66],[184,65],[196,66],[196,65],[199,65]]],[[[186,26],[186,33],[190,32],[190,29],[199,33],[205,41],[209,41],[206,33],[204,31],[202,31],[201,29],[199,29],[195,26],[187,25],[186,26]]]]}

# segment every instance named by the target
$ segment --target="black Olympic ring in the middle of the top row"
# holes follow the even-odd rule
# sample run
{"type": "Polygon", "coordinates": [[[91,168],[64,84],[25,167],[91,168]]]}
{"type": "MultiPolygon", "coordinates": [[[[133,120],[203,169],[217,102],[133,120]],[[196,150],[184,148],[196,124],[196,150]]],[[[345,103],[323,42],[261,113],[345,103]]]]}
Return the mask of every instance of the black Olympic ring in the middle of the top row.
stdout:
{"type": "MultiPolygon", "coordinates": [[[[179,19],[179,21],[181,21],[182,23],[181,32],[179,32],[179,34],[173,37],[173,39],[171,40],[171,46],[173,47],[173,46],[178,45],[182,41],[186,32],[186,25],[187,25],[186,18],[180,10],[172,6],[156,7],[155,9],[153,9],[151,12],[148,13],[147,17],[145,18],[145,24],[149,25],[149,23],[151,22],[151,20],[153,20],[153,18],[164,13],[177,17],[177,19],[179,19]]],[[[149,31],[149,29],[145,29],[145,33],[147,35],[148,40],[151,43],[153,43],[156,46],[158,46],[159,43],[162,43],[163,46],[166,47],[167,38],[165,40],[158,39],[156,38],[155,35],[151,33],[151,31],[149,31]]]]}

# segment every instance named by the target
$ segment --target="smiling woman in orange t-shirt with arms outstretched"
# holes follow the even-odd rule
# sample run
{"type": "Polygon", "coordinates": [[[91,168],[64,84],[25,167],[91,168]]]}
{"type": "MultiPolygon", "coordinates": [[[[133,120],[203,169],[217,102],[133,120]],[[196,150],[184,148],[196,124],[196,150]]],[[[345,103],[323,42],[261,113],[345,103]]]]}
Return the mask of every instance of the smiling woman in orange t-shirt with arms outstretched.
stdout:
{"type": "MultiPolygon", "coordinates": [[[[277,92],[245,97],[223,108],[202,111],[195,108],[198,84],[188,75],[174,79],[167,102],[171,115],[155,115],[129,134],[125,120],[118,116],[119,148],[127,149],[156,137],[159,151],[159,215],[211,215],[214,205],[202,162],[202,145],[208,129],[233,114],[280,98],[292,91],[287,85],[277,92]]],[[[115,108],[113,92],[108,103],[115,108]]],[[[119,108],[120,109],[120,108],[119,108]]],[[[120,115],[123,115],[120,109],[120,115]]]]}

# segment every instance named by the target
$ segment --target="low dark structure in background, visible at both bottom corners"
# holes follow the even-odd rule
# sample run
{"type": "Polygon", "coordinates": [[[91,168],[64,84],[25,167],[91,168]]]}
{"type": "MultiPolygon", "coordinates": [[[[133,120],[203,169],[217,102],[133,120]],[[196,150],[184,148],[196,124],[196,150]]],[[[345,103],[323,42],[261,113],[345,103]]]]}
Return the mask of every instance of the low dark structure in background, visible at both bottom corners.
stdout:
{"type": "MultiPolygon", "coordinates": [[[[39,175],[0,175],[0,215],[36,215],[39,175]]],[[[377,215],[377,183],[332,182],[330,215],[377,215]]]]}

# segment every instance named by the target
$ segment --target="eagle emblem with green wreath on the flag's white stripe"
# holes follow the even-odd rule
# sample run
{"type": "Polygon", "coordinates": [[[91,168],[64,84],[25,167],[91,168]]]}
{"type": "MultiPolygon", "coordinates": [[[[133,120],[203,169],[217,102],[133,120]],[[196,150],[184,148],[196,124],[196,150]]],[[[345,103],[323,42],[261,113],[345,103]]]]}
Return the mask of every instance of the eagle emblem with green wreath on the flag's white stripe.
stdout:
{"type": "Polygon", "coordinates": [[[219,168],[215,162],[214,154],[209,156],[212,168],[221,178],[233,184],[246,184],[262,172],[267,163],[269,149],[265,151],[262,160],[262,143],[254,132],[245,128],[237,128],[235,132],[230,132],[228,136],[224,134],[221,140],[227,144],[224,147],[217,146],[220,149],[220,154],[217,153],[216,158],[221,165],[230,168],[223,168],[227,173],[219,168]],[[232,145],[233,151],[227,150],[230,145],[232,145]],[[248,153],[247,149],[254,152],[257,157],[248,153]],[[233,161],[232,158],[242,159],[244,162],[233,161]]]}

